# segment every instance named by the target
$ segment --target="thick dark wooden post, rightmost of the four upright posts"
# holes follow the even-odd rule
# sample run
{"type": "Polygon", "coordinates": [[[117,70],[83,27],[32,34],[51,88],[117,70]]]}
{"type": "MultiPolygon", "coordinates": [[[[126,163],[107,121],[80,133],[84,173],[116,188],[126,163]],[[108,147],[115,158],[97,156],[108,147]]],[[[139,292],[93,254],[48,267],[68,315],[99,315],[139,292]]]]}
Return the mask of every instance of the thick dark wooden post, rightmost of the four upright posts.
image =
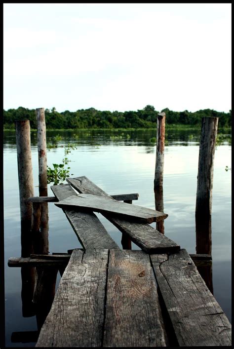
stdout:
{"type": "Polygon", "coordinates": [[[211,254],[211,207],[218,117],[203,117],[196,190],[196,253],[211,254]]]}

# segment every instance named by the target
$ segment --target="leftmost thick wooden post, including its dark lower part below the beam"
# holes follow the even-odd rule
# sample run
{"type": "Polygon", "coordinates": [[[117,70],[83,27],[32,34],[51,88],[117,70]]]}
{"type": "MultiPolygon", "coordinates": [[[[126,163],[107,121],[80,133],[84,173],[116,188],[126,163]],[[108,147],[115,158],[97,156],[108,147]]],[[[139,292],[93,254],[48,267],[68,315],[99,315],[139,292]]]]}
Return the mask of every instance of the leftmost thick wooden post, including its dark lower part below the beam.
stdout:
{"type": "MultiPolygon", "coordinates": [[[[32,203],[26,201],[34,196],[33,167],[31,155],[31,137],[29,120],[15,122],[20,216],[21,216],[21,257],[29,257],[33,250],[33,236],[31,234],[32,203]]],[[[32,299],[35,284],[35,268],[21,270],[22,314],[24,317],[35,315],[32,299]]]]}

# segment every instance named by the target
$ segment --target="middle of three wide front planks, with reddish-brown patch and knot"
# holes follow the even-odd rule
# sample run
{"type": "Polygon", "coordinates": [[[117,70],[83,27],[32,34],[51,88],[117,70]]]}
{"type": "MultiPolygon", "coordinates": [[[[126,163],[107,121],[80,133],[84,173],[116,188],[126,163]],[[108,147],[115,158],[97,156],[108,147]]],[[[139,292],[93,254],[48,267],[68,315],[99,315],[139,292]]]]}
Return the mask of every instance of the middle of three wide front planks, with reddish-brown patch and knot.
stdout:
{"type": "Polygon", "coordinates": [[[164,347],[166,339],[149,255],[111,250],[103,347],[164,347]]]}

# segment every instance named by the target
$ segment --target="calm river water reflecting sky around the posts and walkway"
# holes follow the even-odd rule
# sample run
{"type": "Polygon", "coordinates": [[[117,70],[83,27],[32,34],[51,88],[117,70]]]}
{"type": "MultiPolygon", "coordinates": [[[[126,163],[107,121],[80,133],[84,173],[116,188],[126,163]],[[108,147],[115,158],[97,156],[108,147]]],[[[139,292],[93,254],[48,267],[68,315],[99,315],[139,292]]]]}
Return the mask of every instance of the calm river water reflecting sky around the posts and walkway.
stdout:
{"type": "MultiPolygon", "coordinates": [[[[214,160],[212,203],[212,258],[214,296],[231,321],[231,143],[230,135],[217,145],[214,160]]],[[[76,146],[67,157],[70,173],[86,176],[108,194],[139,193],[136,204],[155,209],[155,130],[136,131],[47,131],[47,143],[58,148],[47,151],[48,166],[61,163],[64,147],[76,146]],[[61,147],[63,146],[63,147],[61,147]]],[[[200,130],[166,133],[163,197],[165,235],[195,253],[195,199],[200,130]]],[[[31,134],[35,196],[38,189],[36,132],[31,134]]],[[[36,316],[23,317],[20,268],[9,268],[9,257],[20,257],[20,207],[15,133],[4,132],[4,239],[5,239],[5,327],[6,347],[33,347],[35,343],[13,343],[12,332],[36,331],[36,316]]],[[[72,176],[71,176],[72,177],[72,176]]],[[[50,184],[52,185],[52,184],[50,184]]],[[[48,196],[53,193],[48,189],[48,196]]],[[[134,203],[134,202],[133,202],[134,203]]],[[[49,251],[80,248],[62,210],[49,203],[49,251]]],[[[121,247],[121,233],[97,214],[121,247]]],[[[155,223],[152,224],[155,227],[155,223]]],[[[133,249],[138,249],[132,244],[133,249]]],[[[57,285],[60,276],[57,277],[57,285]]]]}

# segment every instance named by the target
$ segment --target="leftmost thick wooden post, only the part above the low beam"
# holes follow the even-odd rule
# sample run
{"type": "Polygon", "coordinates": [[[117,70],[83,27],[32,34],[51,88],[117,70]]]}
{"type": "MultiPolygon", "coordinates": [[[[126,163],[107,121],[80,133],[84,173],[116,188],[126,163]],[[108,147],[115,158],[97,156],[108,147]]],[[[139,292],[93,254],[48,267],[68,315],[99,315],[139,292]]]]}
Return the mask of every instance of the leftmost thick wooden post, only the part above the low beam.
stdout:
{"type": "Polygon", "coordinates": [[[31,253],[33,253],[32,239],[30,234],[32,203],[26,201],[26,199],[34,196],[29,120],[17,120],[15,122],[15,133],[20,195],[21,256],[28,257],[31,253]]]}

